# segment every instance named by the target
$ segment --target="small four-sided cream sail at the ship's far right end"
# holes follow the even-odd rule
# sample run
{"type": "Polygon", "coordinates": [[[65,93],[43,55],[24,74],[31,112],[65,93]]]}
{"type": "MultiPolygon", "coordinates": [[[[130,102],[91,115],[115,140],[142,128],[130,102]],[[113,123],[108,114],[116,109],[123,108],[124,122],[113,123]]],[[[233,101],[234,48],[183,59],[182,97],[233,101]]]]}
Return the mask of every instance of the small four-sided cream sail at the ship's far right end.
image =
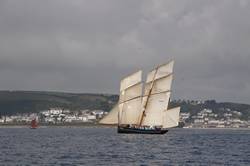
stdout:
{"type": "Polygon", "coordinates": [[[163,128],[178,126],[180,116],[180,107],[166,110],[163,113],[163,128]]]}

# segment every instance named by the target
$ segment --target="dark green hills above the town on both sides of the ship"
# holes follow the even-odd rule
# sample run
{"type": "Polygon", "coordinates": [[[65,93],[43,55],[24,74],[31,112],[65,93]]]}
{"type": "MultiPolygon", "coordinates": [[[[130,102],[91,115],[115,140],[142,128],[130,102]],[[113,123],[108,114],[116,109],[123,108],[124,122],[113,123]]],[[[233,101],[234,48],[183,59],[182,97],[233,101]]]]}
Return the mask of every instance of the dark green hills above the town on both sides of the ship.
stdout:
{"type": "MultiPolygon", "coordinates": [[[[31,113],[60,107],[72,111],[83,109],[101,109],[109,111],[118,101],[118,95],[109,94],[77,94],[63,92],[39,91],[0,91],[0,115],[15,113],[31,113]]],[[[173,100],[170,107],[181,106],[181,112],[196,115],[202,109],[212,109],[222,115],[231,111],[241,112],[240,119],[250,120],[250,105],[238,103],[217,103],[215,100],[189,101],[173,100]]]]}

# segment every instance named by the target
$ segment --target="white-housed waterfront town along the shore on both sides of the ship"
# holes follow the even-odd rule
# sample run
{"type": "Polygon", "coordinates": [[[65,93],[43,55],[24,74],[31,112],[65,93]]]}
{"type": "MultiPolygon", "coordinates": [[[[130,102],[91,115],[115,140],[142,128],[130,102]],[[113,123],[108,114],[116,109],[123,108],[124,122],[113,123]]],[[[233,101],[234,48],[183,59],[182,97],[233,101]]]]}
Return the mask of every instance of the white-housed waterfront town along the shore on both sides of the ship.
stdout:
{"type": "MultiPolygon", "coordinates": [[[[36,119],[40,124],[86,124],[97,123],[108,112],[103,110],[70,111],[61,108],[51,108],[39,113],[25,113],[10,116],[1,116],[0,125],[4,124],[29,124],[36,119]]],[[[203,109],[196,115],[189,112],[180,113],[180,125],[184,128],[250,128],[249,120],[241,120],[242,113],[226,110],[222,115],[216,114],[211,109],[203,109]]]]}

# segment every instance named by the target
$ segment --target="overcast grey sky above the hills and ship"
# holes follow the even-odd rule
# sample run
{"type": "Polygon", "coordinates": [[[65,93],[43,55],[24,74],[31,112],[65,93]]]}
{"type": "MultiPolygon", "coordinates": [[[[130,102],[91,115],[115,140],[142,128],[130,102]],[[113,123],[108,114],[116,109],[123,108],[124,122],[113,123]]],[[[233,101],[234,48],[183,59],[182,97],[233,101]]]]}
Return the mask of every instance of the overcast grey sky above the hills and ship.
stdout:
{"type": "Polygon", "coordinates": [[[0,1],[0,90],[118,93],[169,59],[174,98],[249,104],[250,1],[0,1]]]}

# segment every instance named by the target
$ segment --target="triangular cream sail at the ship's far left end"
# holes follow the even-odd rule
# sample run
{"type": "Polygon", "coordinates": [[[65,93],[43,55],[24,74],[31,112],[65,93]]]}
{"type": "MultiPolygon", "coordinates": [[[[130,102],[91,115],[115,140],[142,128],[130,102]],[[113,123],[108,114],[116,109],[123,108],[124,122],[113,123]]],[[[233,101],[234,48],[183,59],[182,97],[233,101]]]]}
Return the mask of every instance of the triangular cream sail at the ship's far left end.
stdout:
{"type": "Polygon", "coordinates": [[[119,107],[118,105],[115,105],[115,107],[106,116],[104,116],[99,121],[99,123],[110,124],[110,125],[118,124],[118,111],[119,111],[119,107]]]}

